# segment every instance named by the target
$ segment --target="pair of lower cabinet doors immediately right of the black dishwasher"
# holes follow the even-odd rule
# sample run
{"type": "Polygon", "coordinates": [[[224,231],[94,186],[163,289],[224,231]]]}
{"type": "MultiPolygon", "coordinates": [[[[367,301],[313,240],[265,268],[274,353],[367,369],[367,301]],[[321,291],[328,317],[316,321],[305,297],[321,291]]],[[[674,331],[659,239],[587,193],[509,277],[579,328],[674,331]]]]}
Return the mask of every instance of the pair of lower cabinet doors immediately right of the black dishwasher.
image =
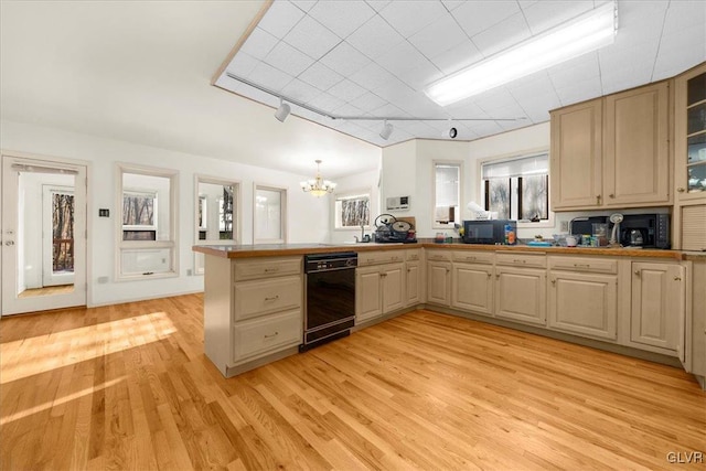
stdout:
{"type": "Polygon", "coordinates": [[[364,322],[406,306],[404,264],[355,269],[355,322],[364,322]]]}

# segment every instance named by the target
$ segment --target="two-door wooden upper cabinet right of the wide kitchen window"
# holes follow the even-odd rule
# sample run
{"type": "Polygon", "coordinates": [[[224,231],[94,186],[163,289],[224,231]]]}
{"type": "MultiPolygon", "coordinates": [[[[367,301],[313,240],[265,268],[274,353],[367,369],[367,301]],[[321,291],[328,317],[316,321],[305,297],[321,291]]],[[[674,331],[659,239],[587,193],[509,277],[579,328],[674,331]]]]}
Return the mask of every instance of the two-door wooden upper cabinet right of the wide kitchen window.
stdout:
{"type": "Polygon", "coordinates": [[[671,204],[668,83],[552,111],[554,211],[671,204]]]}

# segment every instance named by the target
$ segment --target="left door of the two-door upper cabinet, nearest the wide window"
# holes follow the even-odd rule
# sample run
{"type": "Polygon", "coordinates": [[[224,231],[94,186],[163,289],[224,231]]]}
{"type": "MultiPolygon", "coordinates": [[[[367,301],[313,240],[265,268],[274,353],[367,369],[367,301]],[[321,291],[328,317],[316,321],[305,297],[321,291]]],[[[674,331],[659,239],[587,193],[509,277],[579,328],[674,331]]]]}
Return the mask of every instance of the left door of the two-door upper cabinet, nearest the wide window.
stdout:
{"type": "Polygon", "coordinates": [[[552,113],[552,210],[600,205],[601,114],[600,99],[552,113]]]}

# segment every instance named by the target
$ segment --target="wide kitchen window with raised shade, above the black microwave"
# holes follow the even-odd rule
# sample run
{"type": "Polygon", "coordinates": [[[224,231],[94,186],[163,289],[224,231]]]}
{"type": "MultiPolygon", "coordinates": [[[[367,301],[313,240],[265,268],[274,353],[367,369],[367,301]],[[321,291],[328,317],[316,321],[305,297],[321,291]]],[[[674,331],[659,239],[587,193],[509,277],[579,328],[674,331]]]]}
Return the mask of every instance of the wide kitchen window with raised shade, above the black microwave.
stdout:
{"type": "Polygon", "coordinates": [[[481,163],[484,208],[500,220],[548,222],[549,170],[546,153],[481,163]]]}

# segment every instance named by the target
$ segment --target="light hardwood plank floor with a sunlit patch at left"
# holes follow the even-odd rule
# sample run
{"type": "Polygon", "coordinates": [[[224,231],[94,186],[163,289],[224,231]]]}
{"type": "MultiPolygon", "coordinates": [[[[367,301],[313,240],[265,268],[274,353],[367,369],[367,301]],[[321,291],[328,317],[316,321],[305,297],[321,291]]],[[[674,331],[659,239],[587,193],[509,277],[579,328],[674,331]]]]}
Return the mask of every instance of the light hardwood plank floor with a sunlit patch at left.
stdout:
{"type": "Polygon", "coordinates": [[[706,394],[677,368],[416,311],[225,379],[202,317],[194,295],[2,319],[1,469],[686,469],[667,453],[706,452],[706,394]]]}

